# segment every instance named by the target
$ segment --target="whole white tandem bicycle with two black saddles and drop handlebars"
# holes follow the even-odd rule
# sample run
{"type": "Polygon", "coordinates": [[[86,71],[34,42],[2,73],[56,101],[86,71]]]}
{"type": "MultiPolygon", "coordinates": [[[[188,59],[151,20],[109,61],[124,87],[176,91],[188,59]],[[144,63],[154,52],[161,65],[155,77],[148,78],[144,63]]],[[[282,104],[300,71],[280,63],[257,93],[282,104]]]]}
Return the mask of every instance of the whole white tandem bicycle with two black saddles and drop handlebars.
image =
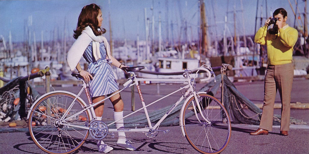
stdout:
{"type": "Polygon", "coordinates": [[[195,90],[195,79],[198,73],[206,73],[206,78],[200,79],[200,81],[207,81],[212,75],[215,77],[210,65],[205,64],[193,70],[185,70],[183,77],[177,79],[138,78],[135,73],[143,68],[144,66],[123,68],[124,71],[131,74],[131,77],[123,84],[124,88],[113,95],[136,86],[142,108],[125,115],[123,119],[143,110],[147,119],[146,126],[137,125],[115,129],[112,125],[117,121],[105,123],[96,120],[93,107],[109,99],[112,95],[100,102],[92,103],[83,77],[78,73],[72,73],[73,77],[83,82],[82,89],[78,94],[64,90],[51,91],[38,98],[29,108],[28,127],[34,143],[44,152],[54,154],[76,151],[88,139],[89,135],[93,139],[104,139],[107,135],[114,137],[116,132],[134,132],[144,133],[151,138],[160,132],[166,134],[169,131],[160,130],[159,126],[176,106],[181,105],[179,126],[182,136],[188,140],[188,143],[200,153],[222,152],[231,138],[229,115],[218,99],[206,92],[195,90]],[[182,84],[182,87],[146,105],[139,86],[140,83],[182,84]],[[87,101],[80,97],[83,91],[86,93],[87,101]],[[182,95],[166,114],[156,123],[150,121],[147,107],[177,92],[181,92],[182,95]]]}

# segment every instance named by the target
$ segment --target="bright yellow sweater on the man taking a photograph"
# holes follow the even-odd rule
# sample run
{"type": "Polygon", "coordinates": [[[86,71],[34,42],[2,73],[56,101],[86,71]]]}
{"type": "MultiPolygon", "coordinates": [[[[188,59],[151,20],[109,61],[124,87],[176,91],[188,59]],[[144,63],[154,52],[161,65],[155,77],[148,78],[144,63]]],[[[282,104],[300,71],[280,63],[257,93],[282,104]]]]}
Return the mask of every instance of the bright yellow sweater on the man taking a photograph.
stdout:
{"type": "Polygon", "coordinates": [[[298,39],[298,31],[289,25],[279,29],[278,34],[270,34],[267,27],[261,27],[255,34],[254,42],[267,45],[268,64],[292,63],[293,47],[298,39]]]}

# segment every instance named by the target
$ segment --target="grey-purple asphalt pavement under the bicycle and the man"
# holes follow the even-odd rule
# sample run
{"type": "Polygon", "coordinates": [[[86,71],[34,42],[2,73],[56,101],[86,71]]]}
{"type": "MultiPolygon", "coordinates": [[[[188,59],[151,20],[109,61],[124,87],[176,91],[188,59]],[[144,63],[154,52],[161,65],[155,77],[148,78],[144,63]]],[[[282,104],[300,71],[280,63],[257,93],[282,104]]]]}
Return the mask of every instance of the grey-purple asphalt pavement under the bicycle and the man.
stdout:
{"type": "MultiPolygon", "coordinates": [[[[239,90],[244,96],[250,99],[253,103],[263,103],[264,84],[263,81],[253,82],[235,82],[237,90],[239,90]]],[[[200,89],[205,84],[197,84],[197,89],[200,89]]],[[[68,90],[73,93],[77,93],[81,87],[54,87],[55,90],[68,90]]],[[[121,88],[121,86],[120,86],[121,88]]],[[[156,85],[141,85],[141,90],[145,102],[152,102],[160,97],[162,94],[169,94],[173,89],[177,88],[171,85],[160,85],[159,92],[157,94],[156,85]]],[[[36,86],[36,90],[44,91],[44,87],[36,86]]],[[[156,111],[163,106],[166,106],[167,102],[176,102],[180,94],[172,95],[168,98],[169,101],[160,101],[157,104],[147,108],[149,112],[156,111]]],[[[131,91],[129,89],[121,92],[121,97],[125,102],[124,115],[131,113],[131,91]]],[[[220,99],[220,93],[215,95],[220,99]]],[[[86,96],[82,96],[86,99],[86,96]]],[[[142,105],[139,103],[138,94],[135,90],[135,109],[140,108],[142,105]]],[[[292,86],[291,103],[309,103],[309,80],[303,78],[294,78],[292,86]]],[[[275,104],[280,104],[280,97],[277,94],[275,104]]],[[[105,102],[103,121],[112,120],[112,105],[109,101],[105,102]]],[[[280,115],[281,110],[275,109],[274,114],[280,115]]],[[[252,154],[273,154],[273,153],[294,153],[303,154],[309,153],[309,109],[291,109],[291,117],[302,121],[302,125],[290,125],[289,136],[279,135],[280,126],[273,126],[273,130],[269,135],[251,136],[249,132],[258,129],[258,125],[247,124],[232,124],[232,136],[231,140],[222,152],[222,154],[230,153],[252,153],[252,154]]],[[[23,122],[21,122],[23,125],[23,122]]],[[[131,139],[133,146],[137,148],[137,151],[128,151],[116,145],[116,139],[106,138],[105,143],[114,148],[110,153],[197,153],[187,142],[187,140],[181,136],[179,126],[160,127],[161,130],[169,129],[167,134],[159,133],[155,138],[144,139],[131,139]]],[[[28,128],[18,126],[10,128],[8,125],[0,125],[0,149],[1,153],[44,153],[33,143],[28,128]]],[[[143,134],[142,134],[143,135],[143,134]]],[[[132,133],[127,137],[144,137],[140,134],[132,133]]],[[[87,141],[83,146],[78,149],[76,153],[99,153],[95,141],[87,141]]]]}

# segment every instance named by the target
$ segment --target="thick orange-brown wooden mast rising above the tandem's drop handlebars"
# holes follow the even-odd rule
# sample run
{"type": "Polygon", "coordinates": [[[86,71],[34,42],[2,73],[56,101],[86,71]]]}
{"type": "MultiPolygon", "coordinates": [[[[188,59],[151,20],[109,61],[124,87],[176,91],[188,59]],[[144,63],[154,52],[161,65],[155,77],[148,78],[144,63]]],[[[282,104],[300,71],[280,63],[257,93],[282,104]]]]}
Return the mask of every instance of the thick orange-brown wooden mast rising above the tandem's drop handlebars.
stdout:
{"type": "Polygon", "coordinates": [[[207,27],[206,27],[206,15],[205,15],[205,3],[203,0],[200,0],[201,3],[201,32],[202,32],[202,38],[201,38],[201,45],[200,45],[200,55],[207,54],[207,27]]]}

